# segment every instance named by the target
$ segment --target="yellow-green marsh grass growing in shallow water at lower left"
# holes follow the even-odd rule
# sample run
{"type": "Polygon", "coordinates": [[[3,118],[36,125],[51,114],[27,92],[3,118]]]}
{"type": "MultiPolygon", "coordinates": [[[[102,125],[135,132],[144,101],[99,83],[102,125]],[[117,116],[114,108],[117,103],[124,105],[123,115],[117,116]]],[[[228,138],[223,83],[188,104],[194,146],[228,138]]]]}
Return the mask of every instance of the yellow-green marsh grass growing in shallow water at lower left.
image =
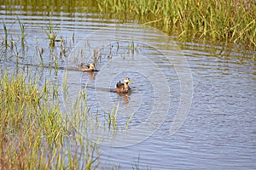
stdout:
{"type": "Polygon", "coordinates": [[[31,74],[1,74],[0,169],[96,167],[96,143],[73,130],[76,124],[61,113],[56,88],[47,80],[41,88],[37,83],[31,74]]]}

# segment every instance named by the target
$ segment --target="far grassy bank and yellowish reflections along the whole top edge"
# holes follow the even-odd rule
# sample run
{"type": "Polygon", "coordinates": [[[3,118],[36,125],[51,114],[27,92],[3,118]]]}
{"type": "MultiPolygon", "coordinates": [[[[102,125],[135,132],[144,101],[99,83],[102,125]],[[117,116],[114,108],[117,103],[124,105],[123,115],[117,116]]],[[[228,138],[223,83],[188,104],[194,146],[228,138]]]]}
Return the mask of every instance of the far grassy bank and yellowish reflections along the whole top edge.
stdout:
{"type": "Polygon", "coordinates": [[[256,48],[256,3],[252,0],[32,0],[5,1],[3,5],[10,11],[22,6],[32,15],[44,14],[46,8],[49,15],[98,14],[104,19],[138,21],[180,37],[236,42],[256,48]],[[49,4],[54,8],[48,8],[49,4]]]}

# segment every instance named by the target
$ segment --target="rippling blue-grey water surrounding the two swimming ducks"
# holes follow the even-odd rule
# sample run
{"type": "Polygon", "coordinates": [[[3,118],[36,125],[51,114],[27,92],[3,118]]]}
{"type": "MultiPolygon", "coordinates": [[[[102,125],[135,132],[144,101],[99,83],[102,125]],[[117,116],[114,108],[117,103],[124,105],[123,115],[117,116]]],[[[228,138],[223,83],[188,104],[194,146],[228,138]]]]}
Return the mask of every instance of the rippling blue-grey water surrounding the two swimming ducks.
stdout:
{"type": "MultiPolygon", "coordinates": [[[[42,49],[45,64],[55,56],[61,66],[68,68],[96,61],[100,71],[92,75],[67,71],[70,88],[63,107],[71,108],[86,85],[87,105],[92,113],[99,111],[100,120],[118,103],[119,128],[134,113],[127,132],[100,143],[101,167],[256,168],[254,51],[201,40],[180,42],[177,37],[167,37],[148,26],[101,20],[94,13],[73,13],[73,9],[68,12],[63,8],[64,12],[51,12],[52,17],[44,17],[46,12],[41,10],[44,6],[38,7],[38,13],[25,7],[1,8],[18,49],[18,53],[8,52],[14,56],[10,59],[4,59],[9,55],[1,54],[2,68],[15,71],[15,55],[18,55],[21,68],[32,69],[42,76],[42,82],[49,78],[61,84],[64,71],[55,75],[50,69],[27,68],[21,63],[38,65],[37,50],[42,49]],[[24,49],[15,36],[20,34],[19,25],[14,24],[16,15],[27,26],[24,49]],[[61,42],[56,42],[54,50],[49,48],[41,28],[49,26],[48,19],[58,25],[58,38],[66,40],[64,48],[61,42]],[[133,82],[131,94],[110,92],[124,77],[133,82]]],[[[0,32],[3,36],[3,26],[0,32]]]]}

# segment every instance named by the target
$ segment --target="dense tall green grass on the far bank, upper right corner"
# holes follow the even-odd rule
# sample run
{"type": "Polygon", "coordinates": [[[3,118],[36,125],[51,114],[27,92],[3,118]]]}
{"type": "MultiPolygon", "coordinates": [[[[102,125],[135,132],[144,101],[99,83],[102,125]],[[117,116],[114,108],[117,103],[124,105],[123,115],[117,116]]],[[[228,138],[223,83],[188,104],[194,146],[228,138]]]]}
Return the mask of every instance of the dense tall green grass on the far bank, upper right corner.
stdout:
{"type": "Polygon", "coordinates": [[[137,19],[180,37],[206,37],[256,47],[256,3],[248,0],[103,0],[98,7],[119,19],[137,19]]]}

